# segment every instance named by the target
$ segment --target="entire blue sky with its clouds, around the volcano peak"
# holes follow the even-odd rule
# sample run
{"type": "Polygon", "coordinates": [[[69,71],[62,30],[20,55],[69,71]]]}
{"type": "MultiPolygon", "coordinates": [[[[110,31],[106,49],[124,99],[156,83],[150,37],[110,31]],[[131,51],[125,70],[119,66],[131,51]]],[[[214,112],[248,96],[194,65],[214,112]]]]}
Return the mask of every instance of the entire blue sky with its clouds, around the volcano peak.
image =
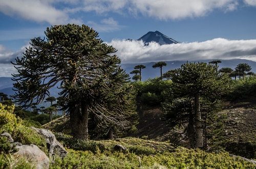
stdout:
{"type": "Polygon", "coordinates": [[[170,60],[256,61],[256,0],[0,0],[0,77],[56,24],[86,24],[118,49],[122,63],[170,60]],[[159,31],[182,42],[125,41],[159,31]]]}

